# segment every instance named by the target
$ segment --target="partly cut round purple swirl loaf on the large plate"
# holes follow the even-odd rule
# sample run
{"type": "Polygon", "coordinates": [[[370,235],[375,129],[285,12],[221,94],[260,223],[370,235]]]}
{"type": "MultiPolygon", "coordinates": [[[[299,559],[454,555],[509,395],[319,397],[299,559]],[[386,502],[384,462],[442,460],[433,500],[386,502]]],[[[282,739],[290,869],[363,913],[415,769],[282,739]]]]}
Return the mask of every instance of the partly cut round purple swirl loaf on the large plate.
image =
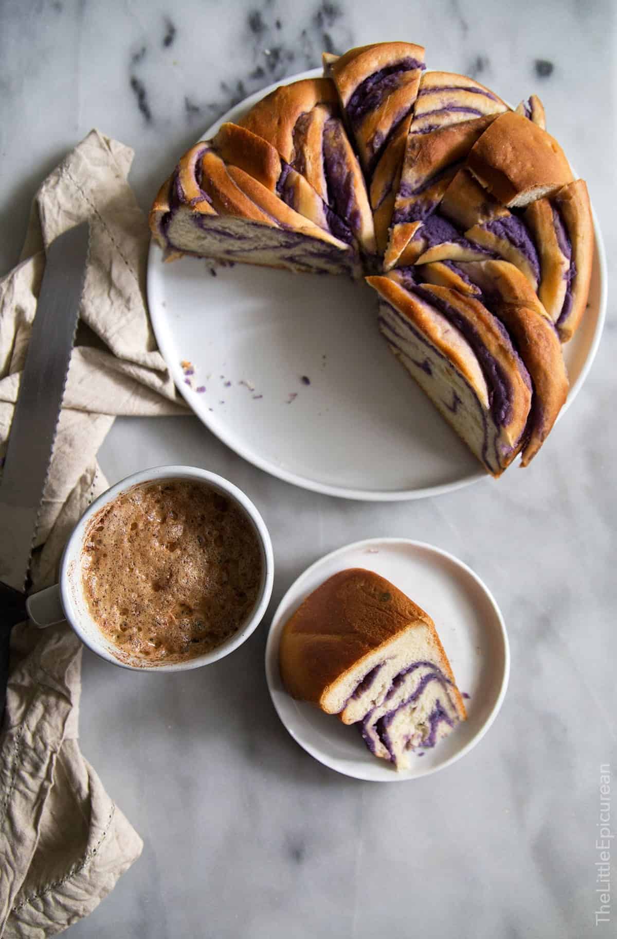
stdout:
{"type": "Polygon", "coordinates": [[[514,112],[424,68],[408,42],[324,54],[324,78],[191,147],[150,226],[169,259],[371,275],[388,345],[499,475],[530,462],[564,404],[591,206],[535,95],[514,112]]]}

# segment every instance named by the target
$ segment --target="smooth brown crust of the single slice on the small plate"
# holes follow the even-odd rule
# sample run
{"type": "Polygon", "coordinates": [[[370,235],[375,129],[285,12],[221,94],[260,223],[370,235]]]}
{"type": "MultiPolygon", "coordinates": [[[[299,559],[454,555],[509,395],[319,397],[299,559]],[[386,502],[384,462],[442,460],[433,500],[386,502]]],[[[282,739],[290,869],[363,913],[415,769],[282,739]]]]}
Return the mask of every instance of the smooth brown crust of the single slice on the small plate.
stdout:
{"type": "Polygon", "coordinates": [[[283,684],[293,698],[322,706],[335,682],[369,654],[420,624],[429,626],[444,658],[440,667],[456,689],[429,615],[372,571],[359,567],[340,571],[310,593],[285,623],[278,651],[283,684]]]}

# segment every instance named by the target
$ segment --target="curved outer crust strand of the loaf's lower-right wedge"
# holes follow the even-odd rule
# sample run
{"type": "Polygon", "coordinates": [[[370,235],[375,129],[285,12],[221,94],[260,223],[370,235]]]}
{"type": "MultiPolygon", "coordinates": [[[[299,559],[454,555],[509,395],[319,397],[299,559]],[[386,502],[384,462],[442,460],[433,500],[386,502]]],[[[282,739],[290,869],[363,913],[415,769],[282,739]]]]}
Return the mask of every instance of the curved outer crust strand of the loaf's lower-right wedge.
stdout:
{"type": "MultiPolygon", "coordinates": [[[[427,264],[418,276],[433,284],[448,281],[443,265],[427,264]]],[[[481,261],[452,265],[449,285],[460,277],[463,289],[481,291],[481,300],[504,324],[534,387],[520,464],[525,467],[549,436],[564,406],[568,379],[559,336],[533,287],[518,268],[507,261],[481,261]],[[469,286],[468,286],[469,285],[469,286]]]]}

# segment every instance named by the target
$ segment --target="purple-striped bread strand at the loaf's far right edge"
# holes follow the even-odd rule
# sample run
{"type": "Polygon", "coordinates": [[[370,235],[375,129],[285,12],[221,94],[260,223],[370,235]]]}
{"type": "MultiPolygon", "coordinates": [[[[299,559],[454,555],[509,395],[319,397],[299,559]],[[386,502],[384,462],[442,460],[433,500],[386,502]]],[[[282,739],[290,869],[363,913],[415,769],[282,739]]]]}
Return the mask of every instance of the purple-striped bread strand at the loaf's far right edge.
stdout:
{"type": "Polygon", "coordinates": [[[594,223],[583,179],[525,210],[540,254],[538,296],[563,343],[572,338],[589,295],[594,259],[594,223]]]}

